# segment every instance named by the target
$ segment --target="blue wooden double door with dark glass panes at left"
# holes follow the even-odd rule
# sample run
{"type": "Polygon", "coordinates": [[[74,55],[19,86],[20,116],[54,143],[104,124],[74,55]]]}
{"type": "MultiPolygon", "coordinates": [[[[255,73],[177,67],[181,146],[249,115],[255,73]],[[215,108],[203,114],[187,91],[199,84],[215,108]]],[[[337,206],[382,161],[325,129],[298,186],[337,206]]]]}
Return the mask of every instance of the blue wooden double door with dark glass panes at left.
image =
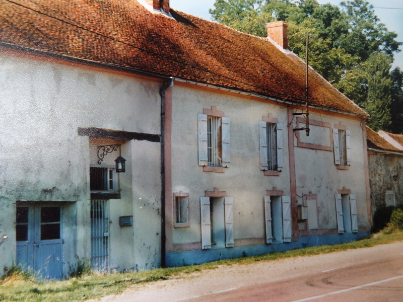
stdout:
{"type": "Polygon", "coordinates": [[[17,263],[44,278],[62,277],[61,207],[17,206],[17,263]]]}

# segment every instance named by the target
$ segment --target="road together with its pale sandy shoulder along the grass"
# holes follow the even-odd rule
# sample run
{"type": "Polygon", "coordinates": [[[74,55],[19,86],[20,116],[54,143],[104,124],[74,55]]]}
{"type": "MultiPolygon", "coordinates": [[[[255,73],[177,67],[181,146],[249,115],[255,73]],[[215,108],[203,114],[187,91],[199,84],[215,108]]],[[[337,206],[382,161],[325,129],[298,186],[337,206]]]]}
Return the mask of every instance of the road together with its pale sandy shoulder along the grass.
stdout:
{"type": "Polygon", "coordinates": [[[402,302],[403,242],[248,265],[135,285],[103,302],[402,302]]]}

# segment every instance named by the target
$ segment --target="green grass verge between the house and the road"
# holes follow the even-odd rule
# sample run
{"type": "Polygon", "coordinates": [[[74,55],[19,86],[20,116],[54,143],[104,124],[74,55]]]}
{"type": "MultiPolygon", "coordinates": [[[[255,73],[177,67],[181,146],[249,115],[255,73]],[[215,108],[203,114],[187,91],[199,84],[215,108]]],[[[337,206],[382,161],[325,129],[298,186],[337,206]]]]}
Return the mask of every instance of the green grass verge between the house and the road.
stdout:
{"type": "Polygon", "coordinates": [[[283,253],[220,260],[184,267],[160,268],[136,273],[90,274],[82,278],[72,278],[56,282],[32,281],[32,279],[27,279],[15,273],[0,281],[0,301],[63,302],[87,300],[119,293],[132,284],[169,279],[180,274],[214,269],[219,265],[233,265],[238,263],[250,264],[256,261],[273,261],[282,258],[325,254],[349,249],[372,247],[395,241],[403,241],[402,232],[393,234],[380,233],[369,239],[340,245],[310,247],[283,253]]]}

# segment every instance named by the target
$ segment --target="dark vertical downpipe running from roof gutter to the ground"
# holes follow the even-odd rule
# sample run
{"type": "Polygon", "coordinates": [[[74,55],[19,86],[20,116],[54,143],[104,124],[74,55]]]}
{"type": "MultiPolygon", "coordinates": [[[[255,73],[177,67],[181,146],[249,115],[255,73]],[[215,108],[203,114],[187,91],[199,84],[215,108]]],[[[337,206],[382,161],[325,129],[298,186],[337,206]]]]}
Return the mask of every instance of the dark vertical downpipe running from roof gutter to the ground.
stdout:
{"type": "Polygon", "coordinates": [[[166,266],[165,235],[165,91],[173,86],[174,79],[169,78],[160,89],[161,96],[161,267],[166,266]]]}

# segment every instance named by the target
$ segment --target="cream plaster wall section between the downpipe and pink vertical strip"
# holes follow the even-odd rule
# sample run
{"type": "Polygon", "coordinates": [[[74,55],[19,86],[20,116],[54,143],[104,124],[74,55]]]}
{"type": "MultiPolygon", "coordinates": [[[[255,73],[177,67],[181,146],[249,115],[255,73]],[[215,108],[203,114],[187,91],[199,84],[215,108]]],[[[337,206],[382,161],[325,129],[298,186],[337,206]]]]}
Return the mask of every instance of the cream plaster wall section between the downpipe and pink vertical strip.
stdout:
{"type": "Polygon", "coordinates": [[[200,242],[199,198],[215,187],[233,197],[235,241],[265,238],[266,190],[277,187],[290,196],[287,108],[180,86],[173,87],[172,104],[172,193],[189,193],[190,215],[188,228],[173,229],[173,244],[200,242]],[[225,173],[203,172],[198,166],[197,114],[212,106],[231,122],[231,166],[225,173]],[[283,124],[284,168],[280,176],[264,176],[260,170],[259,121],[268,113],[283,124]]]}

